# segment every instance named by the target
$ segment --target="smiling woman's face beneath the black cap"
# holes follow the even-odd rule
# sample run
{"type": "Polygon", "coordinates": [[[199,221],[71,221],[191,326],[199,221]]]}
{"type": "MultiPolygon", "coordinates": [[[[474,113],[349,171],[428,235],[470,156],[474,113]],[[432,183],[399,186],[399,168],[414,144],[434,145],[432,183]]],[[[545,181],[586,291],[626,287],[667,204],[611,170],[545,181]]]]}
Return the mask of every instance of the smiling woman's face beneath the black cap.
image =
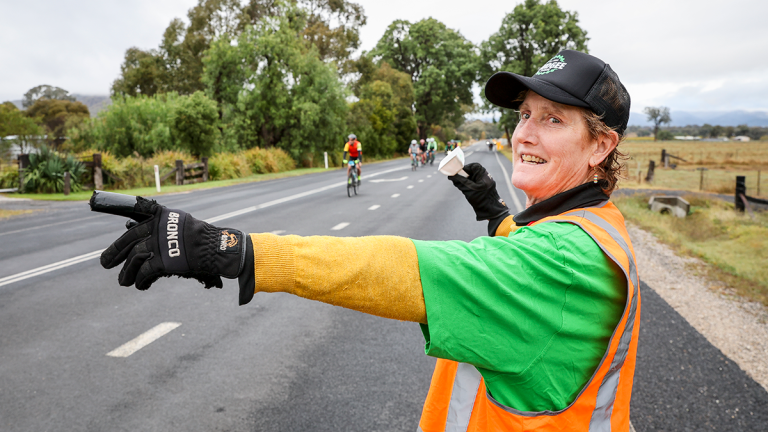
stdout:
{"type": "Polygon", "coordinates": [[[529,91],[512,134],[512,184],[525,192],[526,207],[572,189],[591,180],[592,167],[607,155],[597,160],[599,147],[579,108],[529,91]]]}

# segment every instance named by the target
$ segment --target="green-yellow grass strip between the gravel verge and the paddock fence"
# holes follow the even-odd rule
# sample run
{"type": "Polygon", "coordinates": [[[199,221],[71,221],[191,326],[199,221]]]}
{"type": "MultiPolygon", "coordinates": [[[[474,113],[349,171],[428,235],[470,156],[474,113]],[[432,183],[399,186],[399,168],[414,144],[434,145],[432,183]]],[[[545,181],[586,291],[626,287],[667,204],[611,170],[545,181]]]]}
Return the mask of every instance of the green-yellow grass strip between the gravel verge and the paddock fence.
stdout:
{"type": "Polygon", "coordinates": [[[756,212],[753,220],[722,200],[684,198],[691,204],[686,218],[651,212],[644,194],[612,201],[627,220],[676,251],[710,264],[697,270],[736,294],[768,306],[768,213],[756,212]]]}

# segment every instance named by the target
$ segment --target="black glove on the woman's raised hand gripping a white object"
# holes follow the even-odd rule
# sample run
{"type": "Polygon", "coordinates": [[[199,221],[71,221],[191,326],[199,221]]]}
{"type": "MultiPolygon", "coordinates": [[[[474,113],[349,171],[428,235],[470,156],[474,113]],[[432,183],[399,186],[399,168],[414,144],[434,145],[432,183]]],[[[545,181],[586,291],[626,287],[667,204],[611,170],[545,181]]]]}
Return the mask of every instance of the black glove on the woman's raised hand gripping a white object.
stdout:
{"type": "Polygon", "coordinates": [[[496,192],[496,181],[482,165],[476,162],[464,165],[464,172],[469,177],[456,174],[448,179],[472,205],[477,220],[492,220],[509,215],[507,204],[496,192]]]}

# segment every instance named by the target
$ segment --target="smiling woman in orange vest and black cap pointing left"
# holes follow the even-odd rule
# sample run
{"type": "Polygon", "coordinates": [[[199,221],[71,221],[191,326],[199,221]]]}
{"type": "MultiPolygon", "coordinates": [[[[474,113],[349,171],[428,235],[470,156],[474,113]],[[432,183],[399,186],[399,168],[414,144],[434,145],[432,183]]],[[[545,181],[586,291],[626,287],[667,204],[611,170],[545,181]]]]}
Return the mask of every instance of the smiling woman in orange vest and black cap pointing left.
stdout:
{"type": "Polygon", "coordinates": [[[241,304],[288,292],[421,323],[438,357],[422,431],[626,431],[640,297],[608,198],[629,95],[608,65],[563,51],[533,77],[494,75],[486,96],[520,111],[512,182],[527,196],[512,217],[482,166],[450,178],[489,221],[488,237],[245,236],[140,199],[151,218],[102,265],[125,260],[119,281],[139,289],[172,274],[220,287],[224,276],[239,279],[241,304]]]}

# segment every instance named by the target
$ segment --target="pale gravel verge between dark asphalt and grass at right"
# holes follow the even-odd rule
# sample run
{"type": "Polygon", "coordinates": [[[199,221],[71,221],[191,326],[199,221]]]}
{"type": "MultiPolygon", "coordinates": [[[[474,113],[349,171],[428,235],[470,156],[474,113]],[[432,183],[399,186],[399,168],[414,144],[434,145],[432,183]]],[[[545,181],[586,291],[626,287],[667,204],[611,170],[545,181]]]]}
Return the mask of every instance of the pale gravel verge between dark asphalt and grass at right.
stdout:
{"type": "Polygon", "coordinates": [[[640,279],[712,345],[768,391],[768,310],[696,274],[707,265],[680,257],[653,234],[630,223],[640,279]]]}

